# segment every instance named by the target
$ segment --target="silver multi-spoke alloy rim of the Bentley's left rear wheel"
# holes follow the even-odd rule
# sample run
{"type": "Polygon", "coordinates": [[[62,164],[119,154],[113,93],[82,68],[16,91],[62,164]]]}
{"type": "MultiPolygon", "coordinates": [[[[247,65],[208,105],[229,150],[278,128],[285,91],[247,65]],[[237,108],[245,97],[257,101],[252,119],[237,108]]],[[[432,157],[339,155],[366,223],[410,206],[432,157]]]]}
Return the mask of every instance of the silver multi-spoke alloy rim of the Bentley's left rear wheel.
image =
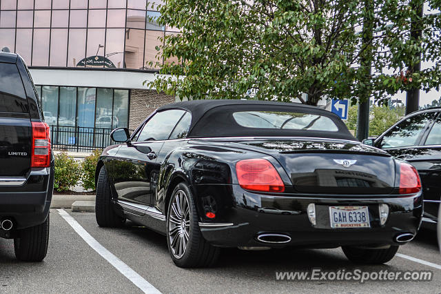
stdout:
{"type": "Polygon", "coordinates": [[[190,233],[189,203],[183,190],[173,196],[167,230],[172,254],[180,259],[185,254],[190,233]]]}

